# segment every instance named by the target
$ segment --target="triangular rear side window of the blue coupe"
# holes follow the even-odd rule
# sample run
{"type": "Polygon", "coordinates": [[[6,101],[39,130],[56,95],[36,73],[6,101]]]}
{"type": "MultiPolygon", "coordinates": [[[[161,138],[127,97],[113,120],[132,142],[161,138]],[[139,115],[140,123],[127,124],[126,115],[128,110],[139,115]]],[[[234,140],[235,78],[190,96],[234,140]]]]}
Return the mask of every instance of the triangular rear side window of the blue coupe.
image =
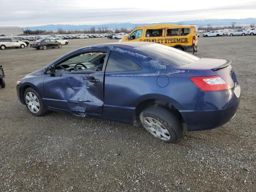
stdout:
{"type": "Polygon", "coordinates": [[[128,57],[111,51],[108,57],[106,72],[138,71],[142,68],[128,57]]]}

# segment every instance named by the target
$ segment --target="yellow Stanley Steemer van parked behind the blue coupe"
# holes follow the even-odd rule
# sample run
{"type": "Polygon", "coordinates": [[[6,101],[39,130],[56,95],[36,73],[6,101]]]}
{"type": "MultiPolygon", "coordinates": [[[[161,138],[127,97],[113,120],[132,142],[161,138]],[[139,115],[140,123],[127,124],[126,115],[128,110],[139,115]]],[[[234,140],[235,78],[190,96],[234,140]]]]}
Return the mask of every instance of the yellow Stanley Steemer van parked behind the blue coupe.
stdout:
{"type": "Polygon", "coordinates": [[[197,27],[195,25],[158,24],[136,27],[119,42],[146,41],[172,46],[186,51],[198,51],[197,27]]]}

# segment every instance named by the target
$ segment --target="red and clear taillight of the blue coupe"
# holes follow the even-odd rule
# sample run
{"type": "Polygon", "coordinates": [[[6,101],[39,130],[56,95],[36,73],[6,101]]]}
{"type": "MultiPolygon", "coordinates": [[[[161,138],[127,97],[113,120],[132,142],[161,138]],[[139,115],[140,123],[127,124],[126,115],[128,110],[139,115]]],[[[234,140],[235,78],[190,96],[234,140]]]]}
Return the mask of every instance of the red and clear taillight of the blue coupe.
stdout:
{"type": "Polygon", "coordinates": [[[191,77],[190,80],[202,91],[220,91],[230,89],[230,86],[218,75],[191,77]]]}

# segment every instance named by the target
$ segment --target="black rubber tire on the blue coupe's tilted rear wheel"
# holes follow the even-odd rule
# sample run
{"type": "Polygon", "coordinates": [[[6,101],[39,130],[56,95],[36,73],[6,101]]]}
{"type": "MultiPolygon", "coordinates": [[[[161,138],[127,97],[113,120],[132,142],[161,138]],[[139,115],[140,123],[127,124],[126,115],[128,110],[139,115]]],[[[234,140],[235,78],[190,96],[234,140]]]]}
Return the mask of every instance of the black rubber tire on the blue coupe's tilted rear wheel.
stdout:
{"type": "MultiPolygon", "coordinates": [[[[159,106],[148,106],[146,107],[141,113],[140,113],[140,121],[142,123],[142,126],[150,132],[154,137],[168,143],[177,143],[181,136],[183,131],[182,122],[178,119],[176,115],[174,115],[172,112],[167,110],[166,108],[162,108],[159,106]],[[162,124],[164,130],[168,130],[170,134],[169,140],[164,140],[161,134],[160,137],[154,135],[154,131],[151,133],[146,127],[147,124],[145,123],[145,118],[153,118],[155,121],[160,122],[162,124]]],[[[168,134],[165,134],[168,136],[168,134]]]]}

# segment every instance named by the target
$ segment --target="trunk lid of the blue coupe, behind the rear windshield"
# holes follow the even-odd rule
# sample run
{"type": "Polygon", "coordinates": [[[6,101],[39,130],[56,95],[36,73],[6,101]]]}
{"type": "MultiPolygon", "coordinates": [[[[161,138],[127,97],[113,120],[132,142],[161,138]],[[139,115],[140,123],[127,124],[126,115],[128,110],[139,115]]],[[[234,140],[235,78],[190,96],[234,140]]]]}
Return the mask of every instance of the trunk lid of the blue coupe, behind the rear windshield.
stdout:
{"type": "Polygon", "coordinates": [[[212,58],[201,58],[198,61],[182,66],[182,68],[188,69],[219,69],[230,64],[229,60],[225,59],[212,59],[212,58]]]}

